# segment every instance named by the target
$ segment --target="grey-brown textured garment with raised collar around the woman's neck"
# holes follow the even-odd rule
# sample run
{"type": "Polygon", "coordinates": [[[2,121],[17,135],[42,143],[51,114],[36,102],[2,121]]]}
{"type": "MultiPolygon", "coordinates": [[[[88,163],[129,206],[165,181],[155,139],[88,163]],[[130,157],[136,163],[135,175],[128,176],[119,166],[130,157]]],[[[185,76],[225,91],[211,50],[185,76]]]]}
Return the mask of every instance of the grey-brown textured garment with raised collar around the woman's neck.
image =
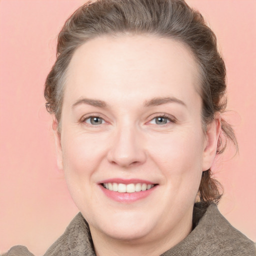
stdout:
{"type": "MultiPolygon", "coordinates": [[[[14,246],[2,256],[33,256],[26,247],[14,246]]],[[[65,232],[43,256],[95,256],[89,225],[79,212],[65,232]]],[[[255,256],[254,243],[221,215],[215,204],[196,203],[193,229],[178,244],[160,256],[255,256]]]]}

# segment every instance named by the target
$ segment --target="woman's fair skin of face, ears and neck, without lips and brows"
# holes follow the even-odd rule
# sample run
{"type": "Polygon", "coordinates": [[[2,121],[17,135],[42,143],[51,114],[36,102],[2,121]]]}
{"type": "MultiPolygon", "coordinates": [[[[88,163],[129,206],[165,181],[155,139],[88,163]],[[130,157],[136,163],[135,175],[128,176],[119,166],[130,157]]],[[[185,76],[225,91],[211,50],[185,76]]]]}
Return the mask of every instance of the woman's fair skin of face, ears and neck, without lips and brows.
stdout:
{"type": "Polygon", "coordinates": [[[97,255],[159,255],[191,231],[201,173],[212,164],[220,132],[219,115],[203,131],[198,88],[193,56],[171,39],[101,36],[74,52],[60,133],[55,121],[53,128],[58,166],[97,255]],[[166,97],[183,103],[144,105],[166,97]],[[82,98],[107,106],[78,103],[82,98]],[[102,123],[91,124],[91,115],[102,123]],[[156,123],[161,115],[165,124],[156,123]],[[109,178],[157,186],[143,199],[122,203],[102,192],[98,182],[109,178]]]}

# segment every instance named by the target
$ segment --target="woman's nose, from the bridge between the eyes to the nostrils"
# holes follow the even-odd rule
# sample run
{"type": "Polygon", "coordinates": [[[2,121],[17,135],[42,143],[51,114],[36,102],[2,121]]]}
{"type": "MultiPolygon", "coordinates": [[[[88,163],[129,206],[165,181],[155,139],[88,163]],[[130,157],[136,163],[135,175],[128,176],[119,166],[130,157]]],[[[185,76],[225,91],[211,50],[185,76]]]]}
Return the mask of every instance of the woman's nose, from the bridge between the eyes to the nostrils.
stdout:
{"type": "Polygon", "coordinates": [[[119,127],[111,137],[112,143],[107,153],[107,160],[121,167],[130,167],[145,162],[146,152],[142,136],[133,126],[119,127]]]}

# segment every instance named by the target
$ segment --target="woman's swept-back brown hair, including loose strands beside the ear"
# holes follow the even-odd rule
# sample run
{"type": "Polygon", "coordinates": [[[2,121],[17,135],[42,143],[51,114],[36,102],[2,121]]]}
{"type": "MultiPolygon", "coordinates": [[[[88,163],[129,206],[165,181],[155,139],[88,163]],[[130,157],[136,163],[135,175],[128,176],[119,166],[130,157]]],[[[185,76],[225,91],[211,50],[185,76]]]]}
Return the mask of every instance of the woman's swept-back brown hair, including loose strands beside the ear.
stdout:
{"type": "MultiPolygon", "coordinates": [[[[65,22],[58,35],[56,61],[44,88],[46,109],[61,123],[65,74],[74,51],[84,42],[101,35],[151,34],[177,40],[191,50],[198,65],[202,124],[214,119],[226,107],[226,70],[217,50],[216,36],[202,15],[184,0],[97,0],[80,6],[65,22]]],[[[230,124],[221,117],[221,136],[216,153],[222,153],[230,139],[237,142],[230,124]],[[222,142],[224,138],[224,143],[222,142]]],[[[217,203],[221,185],[210,169],[202,172],[200,201],[217,203]]]]}

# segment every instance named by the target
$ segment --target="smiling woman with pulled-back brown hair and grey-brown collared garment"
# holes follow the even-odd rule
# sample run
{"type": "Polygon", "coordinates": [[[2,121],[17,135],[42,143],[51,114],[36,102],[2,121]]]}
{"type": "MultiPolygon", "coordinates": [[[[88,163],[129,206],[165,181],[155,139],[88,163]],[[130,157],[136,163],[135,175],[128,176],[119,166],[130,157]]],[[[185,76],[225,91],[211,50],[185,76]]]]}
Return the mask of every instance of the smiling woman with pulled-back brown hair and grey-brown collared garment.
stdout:
{"type": "Polygon", "coordinates": [[[216,208],[210,167],[223,138],[236,145],[225,90],[215,36],[184,1],[77,9],[44,95],[81,213],[45,255],[255,255],[216,208]]]}

